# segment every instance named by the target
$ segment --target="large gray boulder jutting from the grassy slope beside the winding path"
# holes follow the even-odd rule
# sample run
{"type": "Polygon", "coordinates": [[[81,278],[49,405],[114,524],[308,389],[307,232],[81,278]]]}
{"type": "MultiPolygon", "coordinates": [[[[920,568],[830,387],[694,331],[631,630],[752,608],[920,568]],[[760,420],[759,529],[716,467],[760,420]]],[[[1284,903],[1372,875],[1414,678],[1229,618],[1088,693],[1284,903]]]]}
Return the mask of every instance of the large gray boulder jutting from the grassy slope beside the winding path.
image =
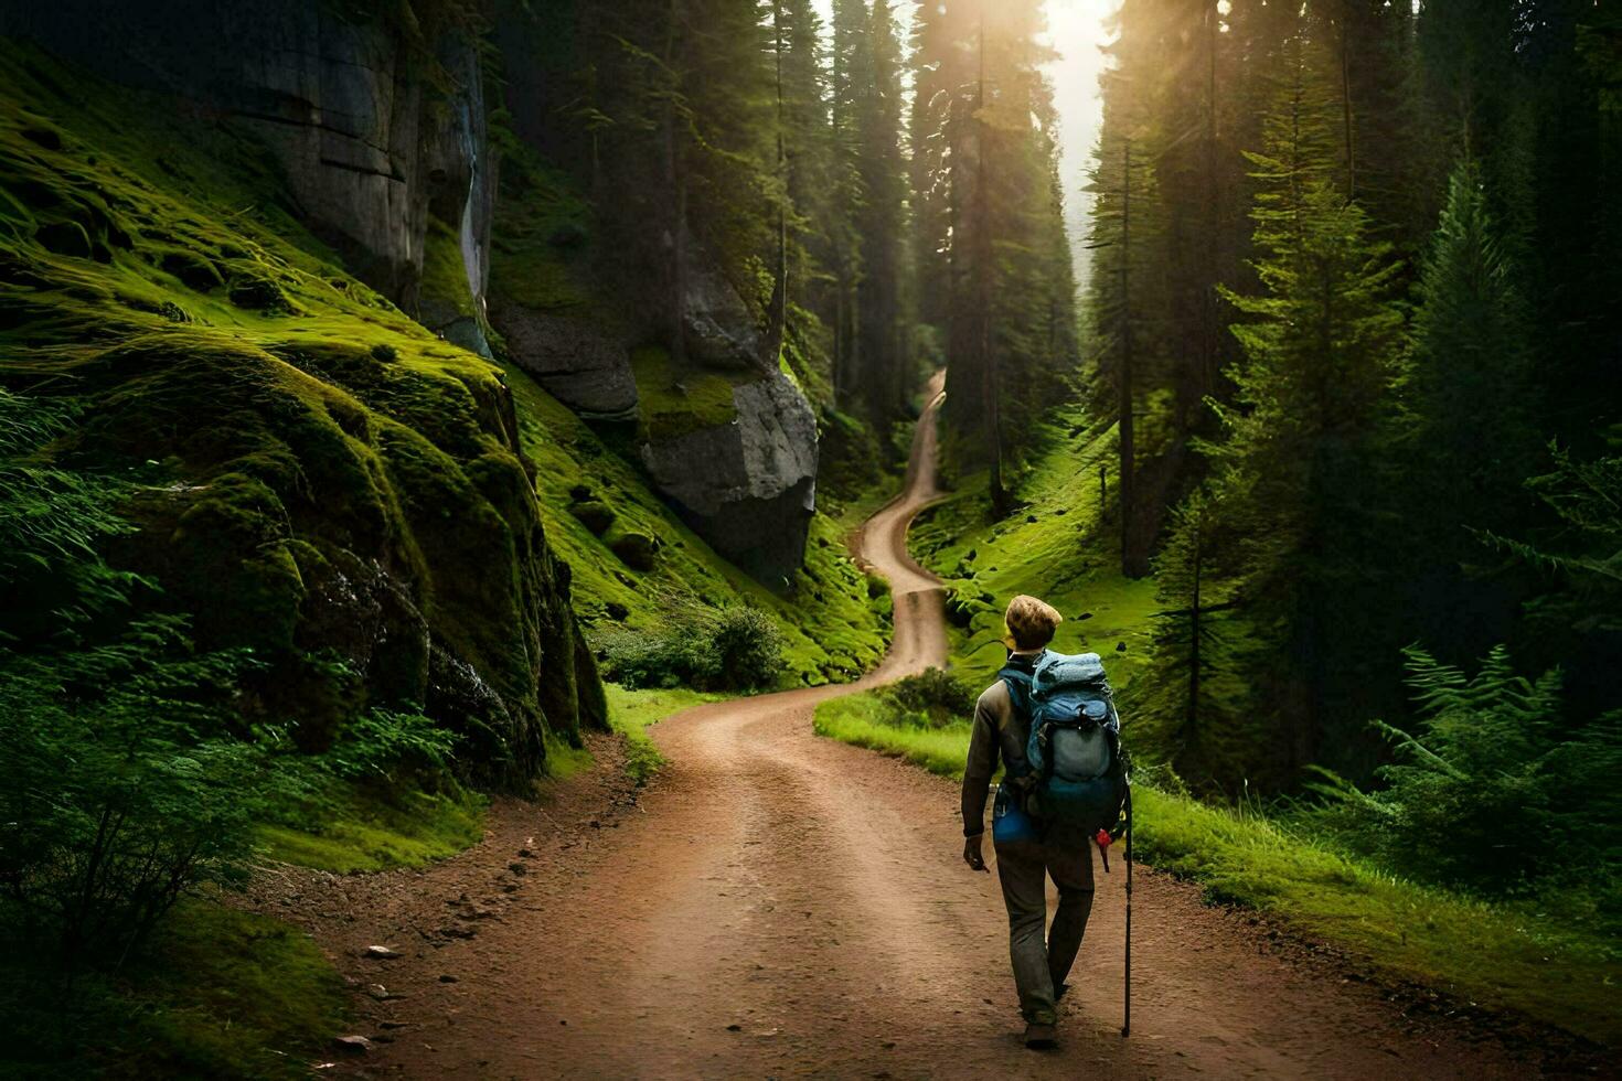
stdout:
{"type": "Polygon", "coordinates": [[[642,444],[642,464],[683,520],[769,585],[805,561],[816,509],[816,418],[782,374],[733,387],[738,417],[642,444]]]}

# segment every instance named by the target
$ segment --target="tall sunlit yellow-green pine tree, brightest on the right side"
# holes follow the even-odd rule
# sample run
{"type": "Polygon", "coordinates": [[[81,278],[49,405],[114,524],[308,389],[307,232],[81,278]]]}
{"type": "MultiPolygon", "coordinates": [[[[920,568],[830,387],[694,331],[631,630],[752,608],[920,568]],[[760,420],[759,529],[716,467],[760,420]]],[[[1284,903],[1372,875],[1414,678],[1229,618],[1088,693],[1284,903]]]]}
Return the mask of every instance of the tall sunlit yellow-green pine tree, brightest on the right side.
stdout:
{"type": "Polygon", "coordinates": [[[1225,293],[1249,321],[1234,326],[1236,407],[1220,410],[1225,438],[1205,444],[1238,546],[1234,598],[1257,642],[1249,708],[1278,726],[1252,778],[1273,783],[1350,754],[1345,736],[1369,715],[1362,642],[1379,629],[1359,601],[1380,587],[1367,558],[1382,536],[1371,475],[1401,331],[1390,298],[1400,267],[1337,173],[1320,53],[1299,42],[1291,55],[1265,149],[1249,156],[1265,292],[1225,293]]]}

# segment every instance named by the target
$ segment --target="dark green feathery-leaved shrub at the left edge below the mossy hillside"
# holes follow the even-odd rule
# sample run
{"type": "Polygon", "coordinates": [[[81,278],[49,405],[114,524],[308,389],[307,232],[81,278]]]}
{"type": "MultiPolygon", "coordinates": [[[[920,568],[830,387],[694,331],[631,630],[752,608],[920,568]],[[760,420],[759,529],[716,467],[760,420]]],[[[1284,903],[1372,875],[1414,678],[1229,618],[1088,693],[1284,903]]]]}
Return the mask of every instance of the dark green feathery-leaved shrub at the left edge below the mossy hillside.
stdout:
{"type": "Polygon", "coordinates": [[[302,791],[222,733],[235,658],[178,645],[154,621],[73,656],[0,655],[0,893],[65,963],[122,961],[183,895],[240,880],[256,818],[302,791]]]}

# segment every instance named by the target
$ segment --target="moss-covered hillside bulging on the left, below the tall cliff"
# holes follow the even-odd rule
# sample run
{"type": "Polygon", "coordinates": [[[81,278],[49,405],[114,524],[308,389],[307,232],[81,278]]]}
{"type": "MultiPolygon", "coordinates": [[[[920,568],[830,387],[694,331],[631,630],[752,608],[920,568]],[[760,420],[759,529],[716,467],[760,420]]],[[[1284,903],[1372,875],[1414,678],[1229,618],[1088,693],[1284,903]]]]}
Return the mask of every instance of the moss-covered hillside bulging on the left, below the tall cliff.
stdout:
{"type": "Polygon", "coordinates": [[[0,381],[76,404],[39,455],[136,483],[115,562],[253,650],[250,708],[321,744],[415,703],[504,778],[600,724],[503,373],[349,276],[227,122],[11,45],[0,97],[0,381]]]}

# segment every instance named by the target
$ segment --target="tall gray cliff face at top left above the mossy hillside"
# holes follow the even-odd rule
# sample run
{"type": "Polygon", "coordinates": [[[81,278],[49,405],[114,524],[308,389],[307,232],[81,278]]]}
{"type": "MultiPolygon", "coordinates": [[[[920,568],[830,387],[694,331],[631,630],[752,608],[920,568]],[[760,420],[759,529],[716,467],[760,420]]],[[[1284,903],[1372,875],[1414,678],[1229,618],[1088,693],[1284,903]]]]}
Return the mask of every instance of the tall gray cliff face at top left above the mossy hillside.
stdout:
{"type": "Polygon", "coordinates": [[[6,3],[0,34],[250,126],[281,160],[300,216],[407,311],[431,209],[461,230],[483,297],[495,175],[472,42],[440,42],[453,86],[441,92],[388,26],[339,18],[323,0],[6,3]]]}

